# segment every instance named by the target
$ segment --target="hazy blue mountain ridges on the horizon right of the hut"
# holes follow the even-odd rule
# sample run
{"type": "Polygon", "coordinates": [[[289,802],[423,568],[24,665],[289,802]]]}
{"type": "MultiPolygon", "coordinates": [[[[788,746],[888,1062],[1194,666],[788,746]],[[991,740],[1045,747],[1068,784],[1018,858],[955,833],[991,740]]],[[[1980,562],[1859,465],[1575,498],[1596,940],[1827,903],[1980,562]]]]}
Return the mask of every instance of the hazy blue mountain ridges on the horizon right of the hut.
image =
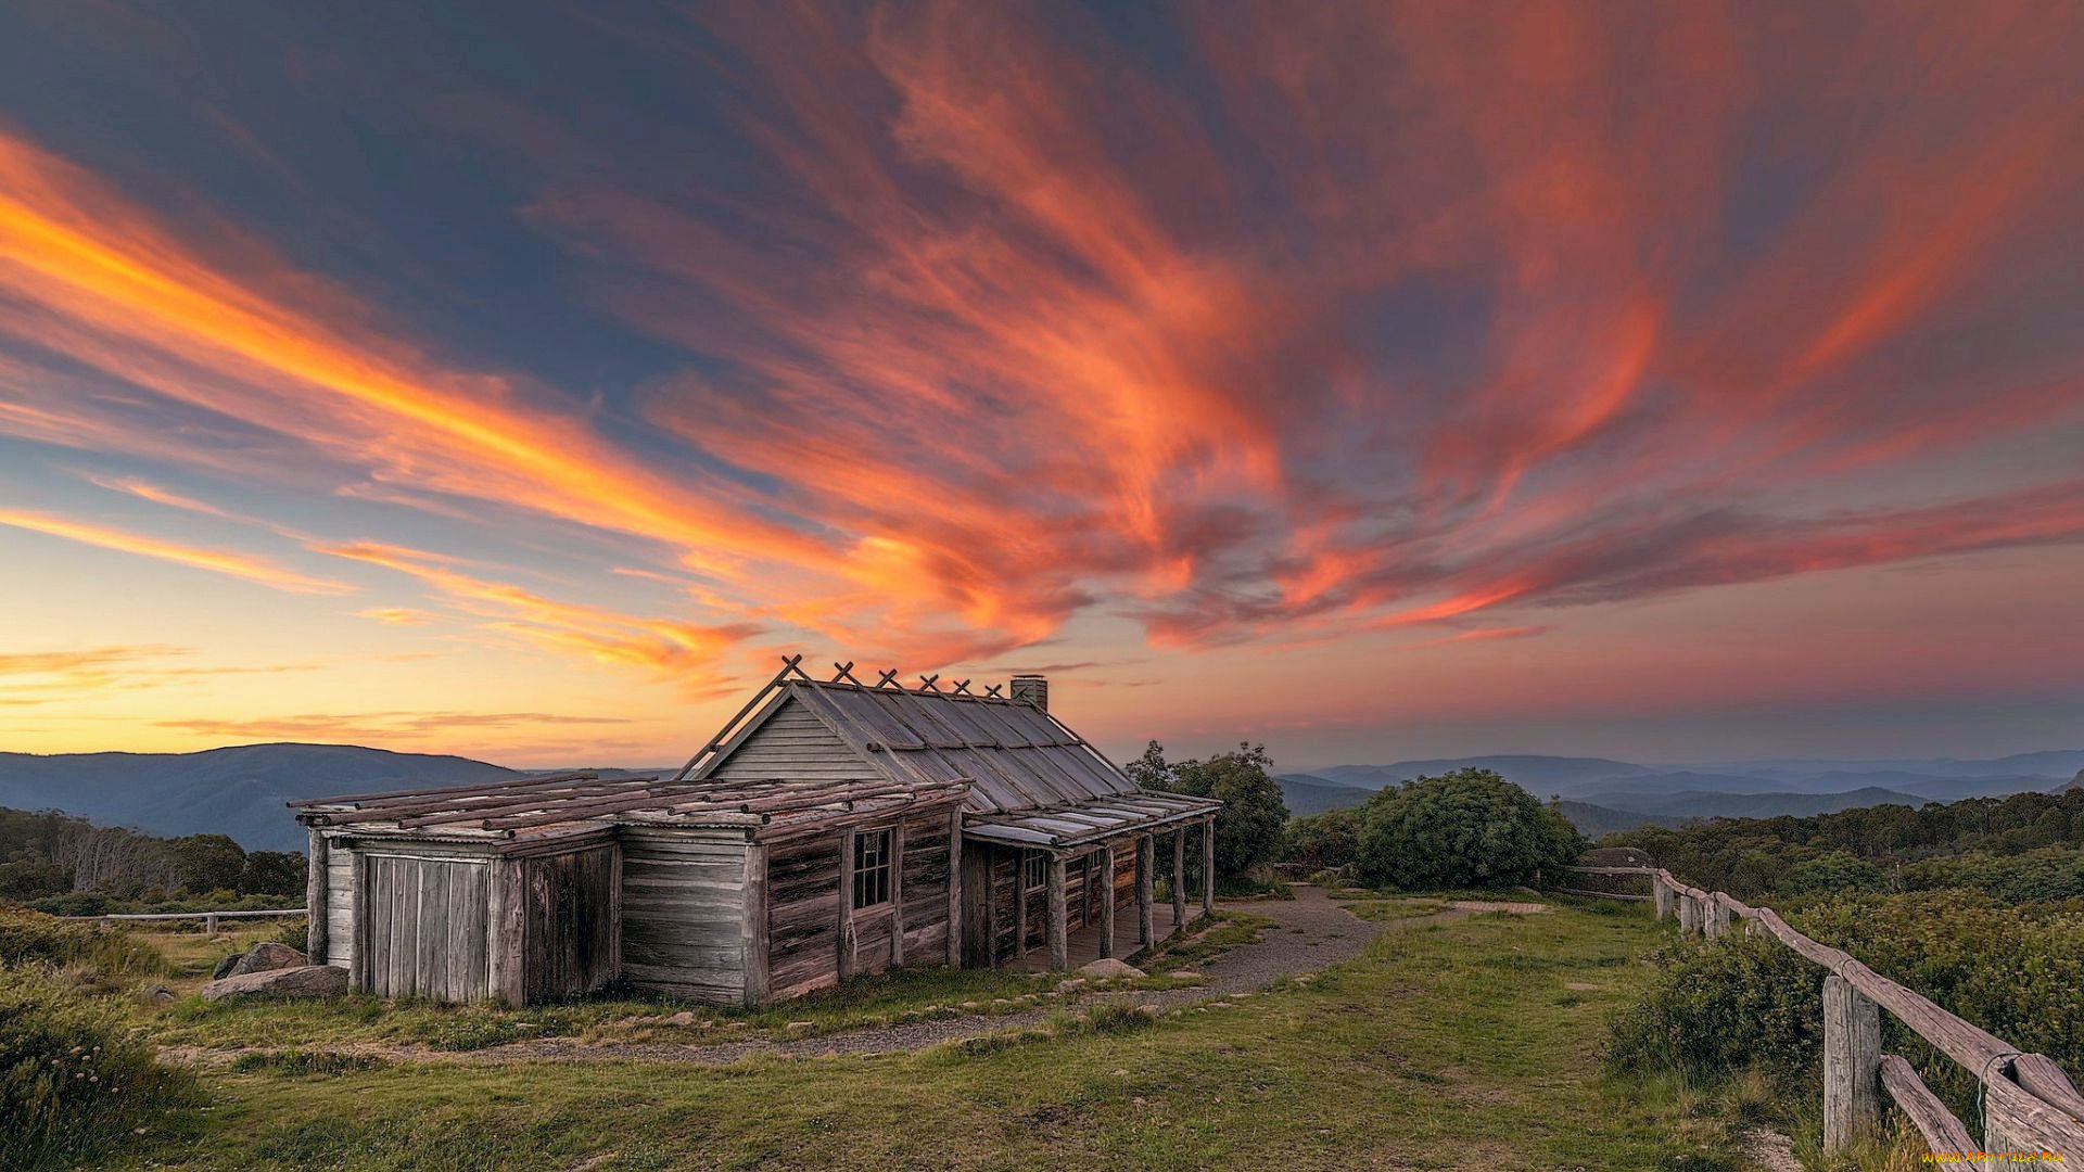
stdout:
{"type": "Polygon", "coordinates": [[[1778,817],[1836,813],[1867,805],[1924,805],[2024,790],[2059,790],[2084,776],[2084,749],[2019,753],[1986,761],[1717,761],[1638,765],[1605,757],[1446,757],[1392,765],[1330,765],[1277,780],[1290,813],[1361,805],[1384,786],[1453,770],[1496,770],[1536,797],[1563,799],[1586,834],[1636,826],[1678,826],[1688,817],[1778,817]]]}

